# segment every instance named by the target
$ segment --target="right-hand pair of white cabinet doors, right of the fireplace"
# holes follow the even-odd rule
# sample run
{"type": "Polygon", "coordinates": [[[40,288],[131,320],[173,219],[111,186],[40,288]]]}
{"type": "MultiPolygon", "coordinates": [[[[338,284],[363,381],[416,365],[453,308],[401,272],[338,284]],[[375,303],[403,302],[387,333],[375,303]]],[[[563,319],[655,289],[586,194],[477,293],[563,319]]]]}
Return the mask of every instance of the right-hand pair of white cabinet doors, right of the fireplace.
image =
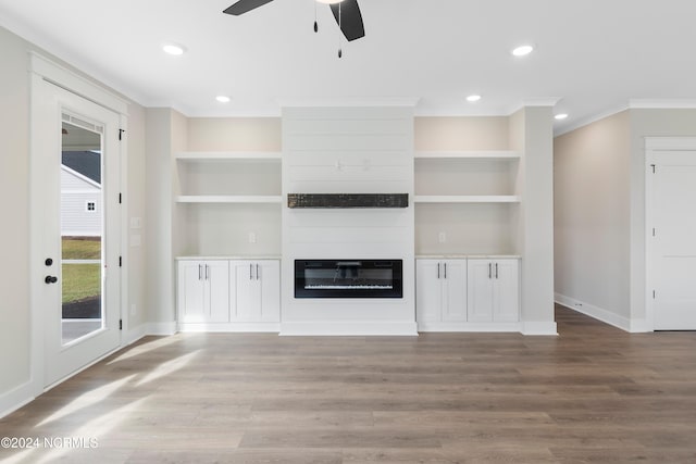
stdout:
{"type": "Polygon", "coordinates": [[[520,319],[520,271],[513,259],[467,260],[468,321],[515,323],[520,319]]]}

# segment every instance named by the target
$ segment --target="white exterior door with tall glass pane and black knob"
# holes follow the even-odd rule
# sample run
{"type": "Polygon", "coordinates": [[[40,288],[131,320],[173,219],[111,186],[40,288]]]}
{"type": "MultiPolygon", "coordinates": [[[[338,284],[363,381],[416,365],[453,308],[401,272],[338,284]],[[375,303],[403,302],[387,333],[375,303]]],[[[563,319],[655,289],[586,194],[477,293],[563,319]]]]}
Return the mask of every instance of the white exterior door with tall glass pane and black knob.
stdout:
{"type": "Polygon", "coordinates": [[[44,386],[50,386],[121,344],[121,116],[33,79],[33,311],[44,324],[44,386]],[[75,134],[89,139],[99,171],[102,211],[92,237],[61,234],[63,140],[75,134]]]}

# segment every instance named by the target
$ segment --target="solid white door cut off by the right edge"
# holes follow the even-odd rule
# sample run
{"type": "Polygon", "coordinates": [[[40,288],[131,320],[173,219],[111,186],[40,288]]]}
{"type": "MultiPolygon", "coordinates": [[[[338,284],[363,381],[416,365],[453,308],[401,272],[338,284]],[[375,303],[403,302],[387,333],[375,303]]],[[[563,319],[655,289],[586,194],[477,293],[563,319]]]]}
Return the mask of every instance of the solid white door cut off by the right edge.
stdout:
{"type": "Polygon", "coordinates": [[[696,149],[648,151],[648,304],[656,330],[696,329],[696,149]]]}

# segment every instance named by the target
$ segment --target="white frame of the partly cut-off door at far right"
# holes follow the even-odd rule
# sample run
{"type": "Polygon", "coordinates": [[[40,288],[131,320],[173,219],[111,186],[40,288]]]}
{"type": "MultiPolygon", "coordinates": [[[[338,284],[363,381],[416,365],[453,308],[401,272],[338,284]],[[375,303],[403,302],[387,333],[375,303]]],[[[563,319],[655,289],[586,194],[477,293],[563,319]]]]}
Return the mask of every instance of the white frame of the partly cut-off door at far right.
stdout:
{"type": "Polygon", "coordinates": [[[646,137],[645,138],[645,318],[647,329],[655,330],[655,275],[652,273],[652,195],[654,165],[659,164],[660,153],[666,151],[696,151],[696,137],[646,137]]]}

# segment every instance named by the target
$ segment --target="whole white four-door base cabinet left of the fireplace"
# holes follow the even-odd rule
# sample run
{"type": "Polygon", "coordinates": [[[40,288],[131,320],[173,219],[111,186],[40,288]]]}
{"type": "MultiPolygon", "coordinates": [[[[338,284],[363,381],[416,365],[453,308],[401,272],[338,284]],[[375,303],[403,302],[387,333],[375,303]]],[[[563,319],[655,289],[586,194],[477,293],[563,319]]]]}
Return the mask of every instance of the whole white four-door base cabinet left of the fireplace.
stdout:
{"type": "Polygon", "coordinates": [[[277,331],[279,260],[179,259],[177,313],[182,330],[277,331]]]}

